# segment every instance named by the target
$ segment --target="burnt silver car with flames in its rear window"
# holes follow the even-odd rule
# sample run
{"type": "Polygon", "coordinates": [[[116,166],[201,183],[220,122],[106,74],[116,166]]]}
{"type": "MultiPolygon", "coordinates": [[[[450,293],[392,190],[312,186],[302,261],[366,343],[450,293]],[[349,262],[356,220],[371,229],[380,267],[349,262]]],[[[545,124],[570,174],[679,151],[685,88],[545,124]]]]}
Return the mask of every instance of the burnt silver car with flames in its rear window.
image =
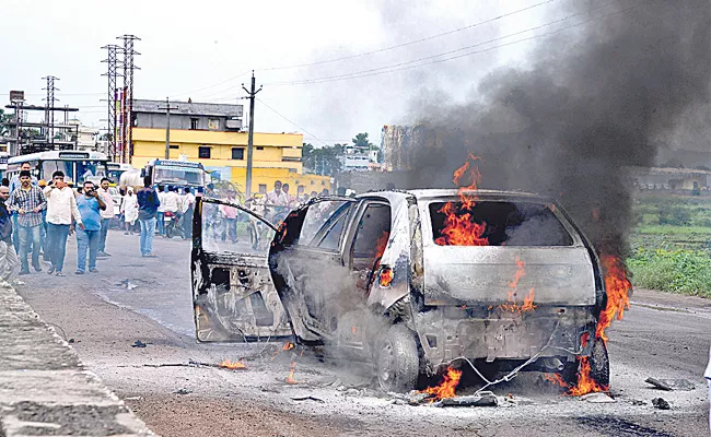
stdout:
{"type": "MultiPolygon", "coordinates": [[[[220,295],[223,314],[235,308],[253,286],[243,277],[264,279],[267,265],[240,273],[245,256],[200,250],[198,241],[194,260],[212,265],[194,262],[198,323],[220,295]],[[232,273],[215,279],[215,269],[232,273]]],[[[386,391],[466,363],[555,371],[571,385],[584,363],[595,382],[609,383],[595,336],[606,306],[599,261],[550,199],[488,190],[319,198],[279,226],[268,268],[271,283],[261,284],[278,295],[296,341],[372,363],[386,391]]]]}

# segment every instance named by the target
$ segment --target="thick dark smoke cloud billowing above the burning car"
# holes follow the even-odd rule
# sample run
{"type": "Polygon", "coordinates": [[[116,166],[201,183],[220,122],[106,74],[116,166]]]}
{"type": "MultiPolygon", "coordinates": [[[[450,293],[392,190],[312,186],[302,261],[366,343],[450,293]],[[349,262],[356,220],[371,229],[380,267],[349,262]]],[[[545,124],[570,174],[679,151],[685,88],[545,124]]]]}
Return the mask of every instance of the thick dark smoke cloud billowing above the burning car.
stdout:
{"type": "Polygon", "coordinates": [[[631,216],[623,167],[653,165],[660,142],[708,104],[711,7],[575,3],[564,8],[584,24],[541,39],[532,68],[491,73],[467,104],[420,98],[427,145],[411,151],[408,185],[452,187],[474,153],[480,188],[552,196],[598,250],[619,255],[631,216]]]}

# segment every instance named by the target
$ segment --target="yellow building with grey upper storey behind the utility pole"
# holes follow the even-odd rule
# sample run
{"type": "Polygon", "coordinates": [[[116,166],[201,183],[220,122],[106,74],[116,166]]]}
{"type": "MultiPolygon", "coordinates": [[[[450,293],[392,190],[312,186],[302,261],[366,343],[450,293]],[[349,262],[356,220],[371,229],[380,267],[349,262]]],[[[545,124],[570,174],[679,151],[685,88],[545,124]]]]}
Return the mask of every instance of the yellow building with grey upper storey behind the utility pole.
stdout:
{"type": "MultiPolygon", "coordinates": [[[[164,102],[135,101],[132,129],[136,168],[150,160],[165,157],[164,102]]],[[[170,158],[187,156],[211,172],[213,178],[230,180],[246,191],[247,132],[242,131],[242,105],[171,102],[170,158]],[[180,110],[183,108],[183,110],[180,110]]],[[[327,176],[304,175],[301,133],[256,133],[252,169],[252,191],[267,192],[277,180],[289,184],[291,194],[300,187],[306,193],[330,190],[327,176]]]]}

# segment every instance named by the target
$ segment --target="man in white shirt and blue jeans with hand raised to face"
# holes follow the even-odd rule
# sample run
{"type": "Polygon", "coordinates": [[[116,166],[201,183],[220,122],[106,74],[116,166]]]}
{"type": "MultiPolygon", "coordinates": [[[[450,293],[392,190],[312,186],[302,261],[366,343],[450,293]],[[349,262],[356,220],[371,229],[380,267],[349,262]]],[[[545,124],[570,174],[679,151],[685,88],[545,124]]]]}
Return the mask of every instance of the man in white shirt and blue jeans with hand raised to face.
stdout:
{"type": "Polygon", "coordinates": [[[65,174],[55,172],[51,175],[51,182],[45,188],[47,198],[47,248],[51,267],[49,274],[56,272],[57,276],[63,276],[65,253],[67,250],[67,236],[71,218],[74,217],[80,229],[84,228],[74,191],[65,184],[65,174]]]}

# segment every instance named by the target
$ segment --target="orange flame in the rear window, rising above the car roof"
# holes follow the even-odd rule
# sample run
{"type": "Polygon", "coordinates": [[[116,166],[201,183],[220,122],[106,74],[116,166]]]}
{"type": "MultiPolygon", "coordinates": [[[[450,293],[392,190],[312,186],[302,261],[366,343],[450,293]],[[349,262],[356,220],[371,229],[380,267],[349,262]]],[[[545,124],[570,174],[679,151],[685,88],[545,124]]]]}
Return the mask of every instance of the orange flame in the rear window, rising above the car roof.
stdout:
{"type": "Polygon", "coordinates": [[[446,215],[444,228],[440,232],[441,236],[434,243],[440,246],[488,246],[489,240],[482,237],[486,231],[486,223],[476,223],[473,221],[471,209],[476,204],[476,196],[468,191],[476,191],[481,181],[479,168],[474,166],[473,162],[480,161],[478,156],[469,154],[468,161],[456,170],[452,181],[459,187],[458,196],[461,205],[456,202],[445,203],[439,212],[446,215]],[[468,176],[469,185],[465,185],[463,179],[468,176]],[[464,212],[469,211],[469,212],[464,212]]]}

